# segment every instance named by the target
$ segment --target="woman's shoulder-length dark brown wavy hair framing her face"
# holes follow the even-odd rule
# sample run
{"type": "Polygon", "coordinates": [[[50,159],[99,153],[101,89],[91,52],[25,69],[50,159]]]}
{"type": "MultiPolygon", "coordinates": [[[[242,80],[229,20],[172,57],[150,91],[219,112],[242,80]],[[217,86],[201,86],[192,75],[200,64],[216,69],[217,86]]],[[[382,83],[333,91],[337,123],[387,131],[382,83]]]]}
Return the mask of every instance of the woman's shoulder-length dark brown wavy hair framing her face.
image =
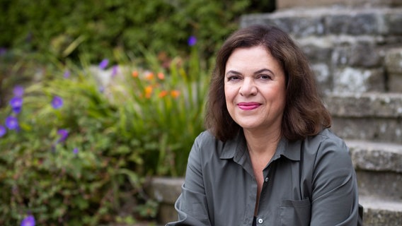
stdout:
{"type": "Polygon", "coordinates": [[[302,50],[275,26],[251,25],[234,32],[217,53],[207,101],[205,127],[219,140],[234,138],[241,126],[231,118],[224,94],[226,62],[234,49],[263,46],[279,61],[286,77],[282,136],[291,141],[331,127],[331,115],[318,95],[314,73],[302,50]]]}

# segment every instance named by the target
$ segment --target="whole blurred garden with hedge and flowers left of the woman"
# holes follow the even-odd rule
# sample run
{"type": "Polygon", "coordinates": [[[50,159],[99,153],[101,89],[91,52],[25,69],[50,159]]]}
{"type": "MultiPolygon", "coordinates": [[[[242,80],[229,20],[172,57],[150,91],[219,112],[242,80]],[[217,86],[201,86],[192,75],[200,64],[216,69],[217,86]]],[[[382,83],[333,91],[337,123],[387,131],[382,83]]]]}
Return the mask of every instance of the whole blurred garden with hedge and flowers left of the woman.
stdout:
{"type": "Polygon", "coordinates": [[[0,225],[132,225],[203,130],[217,48],[274,1],[0,0],[0,225]]]}

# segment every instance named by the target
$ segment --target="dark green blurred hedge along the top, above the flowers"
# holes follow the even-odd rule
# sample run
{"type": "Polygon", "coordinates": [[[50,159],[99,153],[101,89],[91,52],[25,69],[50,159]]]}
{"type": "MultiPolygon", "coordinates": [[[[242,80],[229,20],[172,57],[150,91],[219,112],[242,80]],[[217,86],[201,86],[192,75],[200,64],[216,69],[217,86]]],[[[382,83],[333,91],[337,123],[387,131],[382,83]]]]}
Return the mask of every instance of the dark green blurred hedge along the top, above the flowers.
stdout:
{"type": "MultiPolygon", "coordinates": [[[[51,52],[91,61],[111,57],[113,49],[138,44],[170,56],[186,54],[190,35],[201,41],[205,58],[238,27],[244,13],[272,11],[255,0],[16,0],[0,1],[0,47],[51,52]]],[[[138,52],[136,53],[138,54],[138,52]]]]}

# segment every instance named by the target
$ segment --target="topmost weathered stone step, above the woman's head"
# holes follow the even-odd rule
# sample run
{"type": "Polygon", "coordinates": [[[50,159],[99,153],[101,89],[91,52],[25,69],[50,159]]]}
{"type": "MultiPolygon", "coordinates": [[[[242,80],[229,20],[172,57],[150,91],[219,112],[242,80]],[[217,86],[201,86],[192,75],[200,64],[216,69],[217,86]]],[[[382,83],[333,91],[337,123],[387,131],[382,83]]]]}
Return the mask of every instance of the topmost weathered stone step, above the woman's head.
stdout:
{"type": "Polygon", "coordinates": [[[401,35],[401,8],[351,8],[343,6],[289,8],[241,17],[241,27],[277,25],[295,37],[323,35],[401,35]]]}

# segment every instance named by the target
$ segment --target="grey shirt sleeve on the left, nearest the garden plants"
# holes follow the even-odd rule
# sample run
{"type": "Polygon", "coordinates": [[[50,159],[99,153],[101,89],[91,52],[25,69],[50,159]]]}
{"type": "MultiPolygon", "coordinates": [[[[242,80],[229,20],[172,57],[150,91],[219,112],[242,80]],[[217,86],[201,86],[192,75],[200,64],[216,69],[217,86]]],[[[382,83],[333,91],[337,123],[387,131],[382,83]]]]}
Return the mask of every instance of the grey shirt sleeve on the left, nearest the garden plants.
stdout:
{"type": "Polygon", "coordinates": [[[207,211],[207,198],[205,196],[204,179],[202,176],[202,158],[200,155],[199,136],[190,150],[188,165],[185,172],[185,182],[178,197],[175,208],[178,212],[178,221],[168,222],[166,226],[173,225],[211,225],[207,211]]]}

